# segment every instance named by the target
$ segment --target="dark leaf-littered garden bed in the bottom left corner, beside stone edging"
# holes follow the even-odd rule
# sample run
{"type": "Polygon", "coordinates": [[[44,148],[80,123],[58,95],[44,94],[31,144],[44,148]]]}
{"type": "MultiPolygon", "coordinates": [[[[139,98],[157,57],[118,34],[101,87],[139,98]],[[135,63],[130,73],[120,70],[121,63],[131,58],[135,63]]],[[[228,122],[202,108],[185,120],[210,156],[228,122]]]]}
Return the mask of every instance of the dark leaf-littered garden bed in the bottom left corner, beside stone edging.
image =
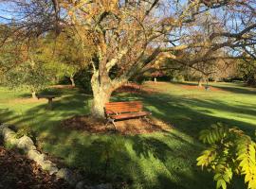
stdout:
{"type": "Polygon", "coordinates": [[[6,149],[0,141],[0,189],[66,189],[64,180],[50,176],[17,149],[6,149]]]}

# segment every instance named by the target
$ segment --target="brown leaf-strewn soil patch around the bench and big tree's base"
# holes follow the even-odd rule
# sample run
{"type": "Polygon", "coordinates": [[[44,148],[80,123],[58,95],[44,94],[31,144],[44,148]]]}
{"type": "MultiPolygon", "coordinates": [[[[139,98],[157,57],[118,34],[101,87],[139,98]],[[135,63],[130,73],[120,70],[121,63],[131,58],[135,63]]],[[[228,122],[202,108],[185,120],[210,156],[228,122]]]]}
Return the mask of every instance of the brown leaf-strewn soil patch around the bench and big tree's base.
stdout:
{"type": "Polygon", "coordinates": [[[117,132],[120,134],[142,134],[151,133],[155,131],[168,131],[172,129],[171,125],[168,125],[154,117],[147,119],[137,118],[116,121],[116,129],[113,124],[109,123],[105,125],[101,120],[95,119],[89,115],[79,116],[76,115],[62,122],[62,126],[68,129],[80,129],[92,133],[106,133],[117,132]]]}

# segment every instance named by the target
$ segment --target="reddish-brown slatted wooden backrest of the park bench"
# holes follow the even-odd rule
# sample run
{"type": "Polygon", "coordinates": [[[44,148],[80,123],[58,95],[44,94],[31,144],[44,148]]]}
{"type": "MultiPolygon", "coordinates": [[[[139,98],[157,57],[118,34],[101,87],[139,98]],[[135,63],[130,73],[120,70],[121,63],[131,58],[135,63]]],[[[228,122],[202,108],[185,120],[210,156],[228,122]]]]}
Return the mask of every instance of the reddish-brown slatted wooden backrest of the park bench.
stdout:
{"type": "Polygon", "coordinates": [[[105,104],[106,114],[122,112],[141,112],[142,110],[143,105],[140,101],[109,102],[105,104]]]}

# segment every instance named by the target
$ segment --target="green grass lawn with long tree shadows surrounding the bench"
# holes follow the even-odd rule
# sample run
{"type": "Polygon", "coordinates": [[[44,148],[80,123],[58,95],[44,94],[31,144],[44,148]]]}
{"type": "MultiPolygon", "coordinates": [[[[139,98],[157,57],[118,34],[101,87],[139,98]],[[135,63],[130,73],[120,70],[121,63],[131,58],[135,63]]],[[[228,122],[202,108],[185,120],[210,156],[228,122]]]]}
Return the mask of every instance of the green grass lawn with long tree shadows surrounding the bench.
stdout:
{"type": "MultiPolygon", "coordinates": [[[[0,121],[31,128],[44,151],[80,168],[92,182],[126,182],[137,189],[215,188],[212,175],[195,165],[204,148],[198,133],[222,122],[255,137],[256,90],[233,83],[210,83],[215,87],[210,91],[193,85],[147,83],[157,93],[116,94],[112,99],[142,100],[155,117],[174,125],[170,132],[123,136],[64,129],[61,120],[90,109],[90,97],[74,89],[63,90],[54,111],[48,112],[46,102],[23,101],[26,93],[0,88],[0,121]]],[[[234,182],[231,188],[246,188],[243,180],[234,182]]]]}

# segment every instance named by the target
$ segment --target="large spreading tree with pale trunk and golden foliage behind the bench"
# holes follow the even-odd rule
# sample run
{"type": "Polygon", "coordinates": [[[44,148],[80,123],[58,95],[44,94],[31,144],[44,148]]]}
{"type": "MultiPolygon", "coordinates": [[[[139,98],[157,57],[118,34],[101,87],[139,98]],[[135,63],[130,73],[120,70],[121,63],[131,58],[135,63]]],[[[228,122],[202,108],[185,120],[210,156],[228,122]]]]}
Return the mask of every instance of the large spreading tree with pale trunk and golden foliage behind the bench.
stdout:
{"type": "Polygon", "coordinates": [[[83,53],[88,42],[96,46],[90,60],[92,114],[101,118],[104,104],[115,89],[130,77],[152,69],[163,57],[192,66],[217,59],[210,55],[218,49],[236,50],[256,43],[254,0],[2,1],[19,11],[14,18],[16,32],[25,33],[20,40],[49,30],[59,34],[69,27],[83,53]],[[206,14],[219,24],[209,38],[198,39],[192,34],[199,28],[199,18],[206,14]],[[195,49],[202,55],[188,62],[179,56],[195,49]]]}

